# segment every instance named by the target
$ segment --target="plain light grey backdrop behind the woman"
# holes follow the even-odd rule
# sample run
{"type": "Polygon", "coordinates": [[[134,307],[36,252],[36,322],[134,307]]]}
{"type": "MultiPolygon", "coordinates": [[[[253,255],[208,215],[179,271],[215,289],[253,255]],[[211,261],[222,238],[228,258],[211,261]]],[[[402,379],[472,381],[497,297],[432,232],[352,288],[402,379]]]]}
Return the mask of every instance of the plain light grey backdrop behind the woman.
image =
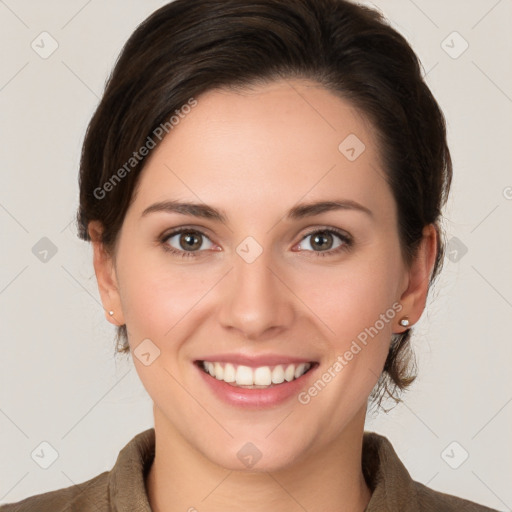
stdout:
{"type": "MultiPolygon", "coordinates": [[[[0,1],[0,503],[109,470],[153,425],[133,363],[114,358],[91,248],[73,219],[79,151],[105,79],[164,3],[0,1]],[[31,47],[43,31],[59,45],[47,59],[31,47]],[[32,252],[42,237],[57,247],[46,262],[32,252]],[[42,441],[58,452],[48,469],[31,458],[42,441]]],[[[444,223],[451,256],[414,327],[419,378],[367,429],[392,441],[414,479],[511,510],[512,2],[373,5],[423,62],[447,117],[455,178],[444,223]],[[469,44],[457,58],[464,41],[454,31],[469,44]],[[469,457],[453,469],[447,461],[457,465],[462,450],[469,457]]]]}

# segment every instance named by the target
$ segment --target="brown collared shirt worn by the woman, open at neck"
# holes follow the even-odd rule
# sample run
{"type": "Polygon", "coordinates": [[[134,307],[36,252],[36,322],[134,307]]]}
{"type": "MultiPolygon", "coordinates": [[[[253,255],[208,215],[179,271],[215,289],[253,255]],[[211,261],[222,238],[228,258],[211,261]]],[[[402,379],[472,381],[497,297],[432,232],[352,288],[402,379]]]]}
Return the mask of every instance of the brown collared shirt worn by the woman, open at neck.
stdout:
{"type": "MultiPolygon", "coordinates": [[[[110,471],[81,484],[0,505],[0,512],[151,512],[145,478],[155,455],[155,430],[137,434],[110,471]]],[[[365,512],[496,512],[434,491],[410,477],[386,437],[365,432],[363,471],[372,490],[365,512]]]]}

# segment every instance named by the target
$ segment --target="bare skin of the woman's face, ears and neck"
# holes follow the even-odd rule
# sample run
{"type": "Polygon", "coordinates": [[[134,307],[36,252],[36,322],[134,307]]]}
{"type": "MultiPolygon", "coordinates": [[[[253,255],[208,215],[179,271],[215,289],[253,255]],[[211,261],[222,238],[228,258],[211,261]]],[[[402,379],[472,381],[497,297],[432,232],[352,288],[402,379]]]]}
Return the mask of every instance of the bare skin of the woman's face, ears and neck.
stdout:
{"type": "MultiPolygon", "coordinates": [[[[157,512],[208,509],[363,511],[370,499],[361,471],[368,396],[392,333],[418,321],[436,251],[432,226],[406,268],[396,204],[371,125],[346,100],[304,80],[244,91],[215,90],[151,153],[126,214],[115,259],[91,222],[94,266],[107,319],[125,324],[132,351],[149,338],[160,356],[135,368],[154,402],[156,456],[147,479],[157,512]],[[366,146],[349,161],[338,146],[356,134],[366,146]],[[178,199],[222,209],[227,222],[157,212],[178,199]],[[297,203],[350,199],[356,210],[287,220],[297,203]],[[203,231],[195,255],[171,228],[203,231]],[[314,230],[338,228],[354,241],[314,230]],[[313,236],[307,236],[313,232],[313,236]],[[246,237],[263,252],[247,263],[246,237]],[[332,246],[329,246],[332,243],[332,246]],[[200,244],[200,245],[199,245],[200,244]],[[330,251],[330,255],[319,256],[330,251]],[[193,361],[219,352],[285,354],[317,361],[320,376],[394,303],[400,313],[310,403],[241,410],[203,382],[193,361]],[[237,452],[252,442],[262,458],[247,469],[237,452]],[[202,501],[204,499],[204,501],[202,501]]],[[[309,384],[310,385],[310,384],[309,384]]]]}

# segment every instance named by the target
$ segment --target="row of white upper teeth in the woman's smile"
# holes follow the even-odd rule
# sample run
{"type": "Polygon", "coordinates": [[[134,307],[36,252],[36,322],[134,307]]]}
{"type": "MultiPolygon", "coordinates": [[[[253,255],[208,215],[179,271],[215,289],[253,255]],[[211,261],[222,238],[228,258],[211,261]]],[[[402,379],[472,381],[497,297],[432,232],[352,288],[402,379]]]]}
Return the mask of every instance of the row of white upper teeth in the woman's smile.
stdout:
{"type": "Polygon", "coordinates": [[[284,381],[291,382],[311,368],[311,363],[278,364],[274,367],[258,366],[257,368],[218,361],[203,361],[202,365],[212,377],[236,386],[271,386],[284,381]]]}

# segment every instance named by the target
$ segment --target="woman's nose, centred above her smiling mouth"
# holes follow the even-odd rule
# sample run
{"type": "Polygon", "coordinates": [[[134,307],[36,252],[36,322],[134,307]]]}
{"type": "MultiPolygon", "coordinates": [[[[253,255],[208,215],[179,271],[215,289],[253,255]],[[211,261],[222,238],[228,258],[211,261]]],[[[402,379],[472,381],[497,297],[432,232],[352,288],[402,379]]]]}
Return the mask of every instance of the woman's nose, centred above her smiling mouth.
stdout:
{"type": "Polygon", "coordinates": [[[223,280],[222,326],[250,340],[276,337],[288,329],[297,299],[285,272],[272,261],[271,251],[263,250],[252,262],[234,254],[233,266],[223,280]]]}

